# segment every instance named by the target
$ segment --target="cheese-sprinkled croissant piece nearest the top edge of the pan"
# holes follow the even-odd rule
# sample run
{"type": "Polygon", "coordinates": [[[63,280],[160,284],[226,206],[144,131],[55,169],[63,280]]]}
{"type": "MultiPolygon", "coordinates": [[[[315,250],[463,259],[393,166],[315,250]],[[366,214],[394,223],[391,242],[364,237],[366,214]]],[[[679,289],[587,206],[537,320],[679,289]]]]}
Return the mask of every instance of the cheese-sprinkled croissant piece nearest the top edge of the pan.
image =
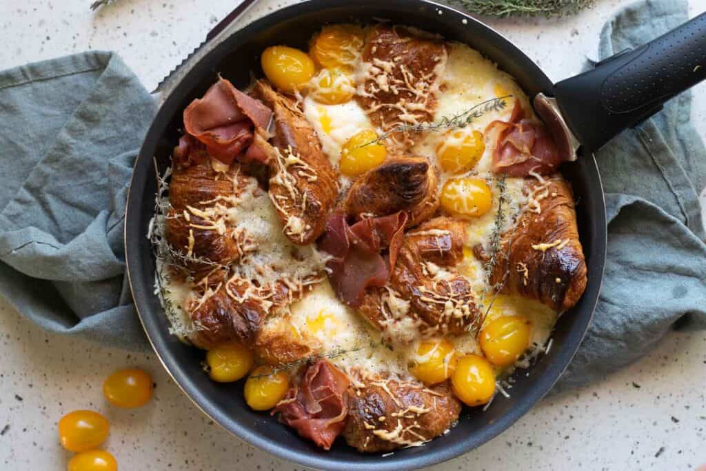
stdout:
{"type": "MultiPolygon", "coordinates": [[[[371,28],[363,49],[357,100],[383,131],[430,122],[447,58],[442,40],[421,37],[400,26],[371,28]]],[[[395,132],[386,143],[403,151],[419,136],[395,132]]]]}

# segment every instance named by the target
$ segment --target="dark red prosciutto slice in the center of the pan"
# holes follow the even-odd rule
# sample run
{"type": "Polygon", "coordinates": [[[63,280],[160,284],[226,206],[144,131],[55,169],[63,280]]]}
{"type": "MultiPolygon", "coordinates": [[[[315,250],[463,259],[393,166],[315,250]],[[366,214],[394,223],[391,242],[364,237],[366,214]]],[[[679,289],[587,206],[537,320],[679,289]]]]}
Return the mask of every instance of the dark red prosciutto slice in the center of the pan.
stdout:
{"type": "Polygon", "coordinates": [[[406,222],[404,211],[369,217],[354,225],[349,225],[342,213],[330,215],[319,248],[333,256],[326,268],[339,299],[357,307],[366,287],[385,286],[397,261],[406,222]],[[385,256],[383,249],[388,249],[385,256]]]}

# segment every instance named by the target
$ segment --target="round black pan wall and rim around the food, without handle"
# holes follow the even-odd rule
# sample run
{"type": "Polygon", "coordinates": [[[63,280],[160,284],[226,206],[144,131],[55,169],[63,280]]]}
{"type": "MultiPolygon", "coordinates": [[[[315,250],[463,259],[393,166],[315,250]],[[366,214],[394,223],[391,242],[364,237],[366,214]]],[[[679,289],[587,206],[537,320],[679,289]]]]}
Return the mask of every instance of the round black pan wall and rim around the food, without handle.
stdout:
{"type": "MultiPolygon", "coordinates": [[[[240,30],[196,64],[166,98],[157,113],[136,162],[126,214],[126,261],[133,297],[158,357],[193,402],[225,429],[258,448],[310,467],[341,470],[399,470],[448,460],[472,450],[501,433],[551,388],[578,348],[592,316],[602,279],[606,244],[603,193],[592,155],[566,164],[563,172],[578,201],[579,230],[584,246],[588,285],[580,302],[558,321],[549,354],[541,355],[530,369],[517,374],[510,398],[498,397],[486,412],[466,408],[457,426],[425,446],[381,454],[361,454],[339,439],[331,451],[318,449],[299,438],[296,431],[278,424],[266,413],[253,412],[242,395],[243,383],[221,384],[203,373],[204,354],[169,335],[154,294],[155,261],[146,234],[154,210],[155,166],[167,166],[179,138],[181,112],[217,80],[220,73],[234,85],[249,83],[253,71],[261,76],[259,56],[273,44],[306,49],[306,43],[326,23],[370,23],[384,18],[436,32],[448,40],[469,44],[514,76],[532,97],[551,93],[551,82],[512,43],[483,23],[451,8],[423,0],[313,0],[290,6],[240,30]]],[[[237,458],[234,457],[234,463],[237,458]]]]}

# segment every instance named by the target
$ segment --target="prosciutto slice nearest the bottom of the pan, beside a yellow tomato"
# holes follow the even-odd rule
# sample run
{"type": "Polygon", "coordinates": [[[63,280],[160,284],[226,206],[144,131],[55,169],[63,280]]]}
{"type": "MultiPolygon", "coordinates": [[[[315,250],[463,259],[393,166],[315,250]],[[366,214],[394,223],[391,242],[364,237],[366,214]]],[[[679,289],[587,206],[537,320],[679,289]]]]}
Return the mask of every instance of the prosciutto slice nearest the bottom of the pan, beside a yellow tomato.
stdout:
{"type": "Polygon", "coordinates": [[[320,359],[306,369],[299,384],[287,391],[273,414],[279,412],[281,422],[328,450],[345,427],[349,384],[345,373],[320,359]]]}

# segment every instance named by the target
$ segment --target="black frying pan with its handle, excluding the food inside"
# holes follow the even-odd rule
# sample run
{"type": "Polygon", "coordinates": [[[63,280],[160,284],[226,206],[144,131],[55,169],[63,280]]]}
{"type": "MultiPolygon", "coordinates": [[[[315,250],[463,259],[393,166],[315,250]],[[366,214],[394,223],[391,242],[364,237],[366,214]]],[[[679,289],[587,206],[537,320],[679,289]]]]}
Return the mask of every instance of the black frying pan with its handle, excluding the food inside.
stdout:
{"type": "Polygon", "coordinates": [[[702,15],[647,46],[618,54],[594,71],[554,85],[498,32],[465,13],[428,0],[312,0],[275,11],[234,32],[205,54],[165,97],[135,164],[125,220],[126,262],[135,305],[152,347],[174,381],[214,422],[258,448],[301,465],[338,470],[412,469],[440,463],[480,446],[513,424],[549,391],[573,357],[591,320],[606,254],[604,194],[592,150],[705,78],[705,54],[706,18],[702,15]],[[261,74],[259,56],[265,47],[287,44],[306,49],[309,37],[324,24],[367,23],[379,18],[468,44],[510,73],[528,96],[536,97],[537,112],[574,159],[565,163],[561,172],[572,184],[578,201],[578,226],[588,268],[586,291],[578,304],[559,318],[553,333],[554,347],[537,359],[529,376],[522,371],[515,377],[510,398],[493,401],[485,412],[478,407],[466,408],[448,434],[425,446],[387,456],[358,453],[342,440],[330,451],[321,451],[268,414],[247,407],[241,381],[215,383],[203,374],[203,352],[169,335],[167,318],[154,294],[155,260],[146,237],[156,191],[153,158],[160,171],[168,165],[183,126],[182,111],[217,80],[217,73],[237,86],[246,85],[251,71],[261,74]]]}

